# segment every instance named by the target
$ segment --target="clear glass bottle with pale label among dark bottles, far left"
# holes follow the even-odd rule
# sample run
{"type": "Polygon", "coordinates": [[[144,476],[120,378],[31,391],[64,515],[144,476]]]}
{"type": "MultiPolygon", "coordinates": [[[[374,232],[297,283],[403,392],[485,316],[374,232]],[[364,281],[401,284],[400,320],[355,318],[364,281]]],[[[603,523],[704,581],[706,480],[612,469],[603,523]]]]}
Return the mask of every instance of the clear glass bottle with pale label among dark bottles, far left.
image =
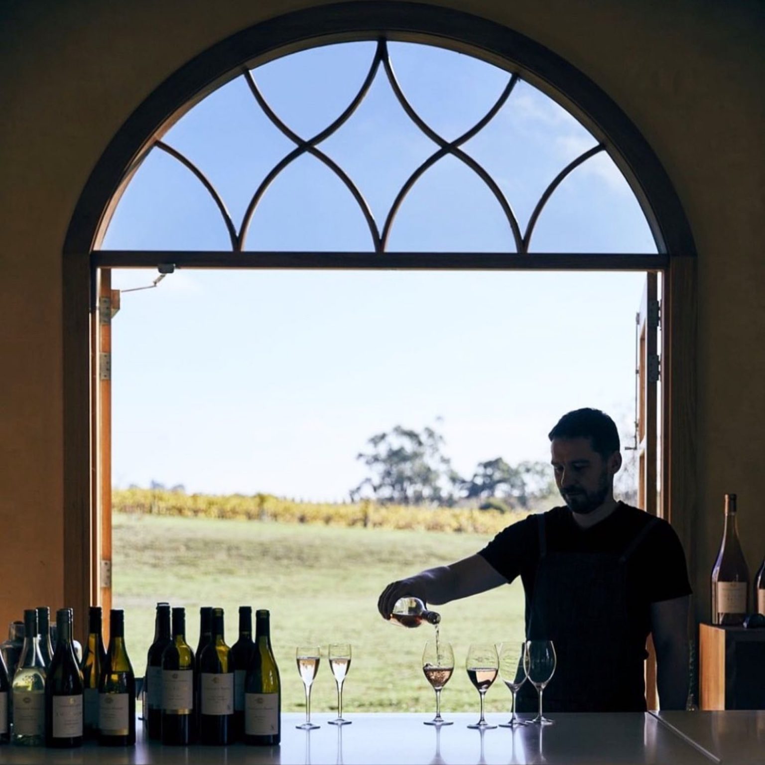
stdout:
{"type": "Polygon", "coordinates": [[[40,653],[37,610],[24,611],[24,647],[13,676],[14,744],[41,747],[45,743],[45,662],[40,653]]]}

